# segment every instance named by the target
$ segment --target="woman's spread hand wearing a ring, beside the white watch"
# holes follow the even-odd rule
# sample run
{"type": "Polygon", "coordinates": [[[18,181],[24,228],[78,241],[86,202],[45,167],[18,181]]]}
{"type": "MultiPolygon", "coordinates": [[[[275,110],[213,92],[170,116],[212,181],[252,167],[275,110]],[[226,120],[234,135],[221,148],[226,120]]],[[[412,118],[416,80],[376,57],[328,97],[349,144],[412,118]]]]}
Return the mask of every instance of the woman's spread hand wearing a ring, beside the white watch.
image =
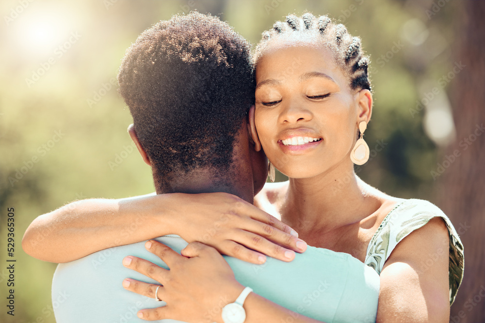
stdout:
{"type": "Polygon", "coordinates": [[[125,257],[129,269],[162,284],[148,284],[134,279],[123,280],[123,287],[167,303],[160,308],[143,309],[138,317],[147,321],[174,319],[183,322],[222,322],[221,310],[236,300],[244,287],[219,252],[199,242],[190,243],[181,254],[157,241],[145,247],[164,261],[170,270],[133,256],[125,257]]]}

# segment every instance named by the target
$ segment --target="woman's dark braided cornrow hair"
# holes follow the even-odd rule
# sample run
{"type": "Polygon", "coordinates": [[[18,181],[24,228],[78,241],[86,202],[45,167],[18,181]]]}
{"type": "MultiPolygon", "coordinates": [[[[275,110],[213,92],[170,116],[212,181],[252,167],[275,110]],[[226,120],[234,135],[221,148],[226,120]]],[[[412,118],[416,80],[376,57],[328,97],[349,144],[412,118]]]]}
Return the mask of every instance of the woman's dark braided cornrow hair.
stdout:
{"type": "Polygon", "coordinates": [[[318,18],[310,13],[301,17],[288,15],[286,22],[276,21],[273,29],[262,33],[262,39],[254,53],[255,63],[258,63],[270,40],[294,35],[311,36],[311,33],[320,35],[323,44],[334,52],[336,62],[350,78],[349,86],[352,90],[371,90],[368,74],[370,59],[364,55],[360,37],[353,37],[344,25],[334,23],[326,15],[318,18]]]}

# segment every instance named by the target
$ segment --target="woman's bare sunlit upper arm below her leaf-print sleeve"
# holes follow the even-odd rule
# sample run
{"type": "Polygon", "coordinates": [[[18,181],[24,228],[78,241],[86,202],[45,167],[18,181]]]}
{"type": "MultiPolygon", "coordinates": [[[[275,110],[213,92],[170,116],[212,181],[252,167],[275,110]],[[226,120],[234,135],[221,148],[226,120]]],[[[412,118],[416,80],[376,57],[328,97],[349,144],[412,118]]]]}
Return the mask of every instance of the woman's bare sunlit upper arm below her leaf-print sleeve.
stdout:
{"type": "Polygon", "coordinates": [[[448,229],[440,217],[411,232],[380,274],[377,322],[448,322],[448,229]]]}

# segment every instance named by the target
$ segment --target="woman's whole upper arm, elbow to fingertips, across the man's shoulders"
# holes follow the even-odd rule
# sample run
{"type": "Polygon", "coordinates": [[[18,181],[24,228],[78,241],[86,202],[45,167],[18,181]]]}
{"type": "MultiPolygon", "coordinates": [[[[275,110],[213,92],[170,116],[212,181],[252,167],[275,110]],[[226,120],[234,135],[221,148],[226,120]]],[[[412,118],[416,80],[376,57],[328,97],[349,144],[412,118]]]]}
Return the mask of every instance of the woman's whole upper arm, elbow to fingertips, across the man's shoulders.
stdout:
{"type": "Polygon", "coordinates": [[[221,253],[253,263],[264,262],[263,254],[291,261],[294,251],[306,249],[290,227],[226,193],[72,202],[37,217],[25,232],[22,247],[40,260],[68,262],[166,234],[178,234],[187,242],[204,242],[221,253]],[[297,247],[298,241],[302,248],[297,247]],[[285,256],[287,251],[290,258],[285,256]]]}

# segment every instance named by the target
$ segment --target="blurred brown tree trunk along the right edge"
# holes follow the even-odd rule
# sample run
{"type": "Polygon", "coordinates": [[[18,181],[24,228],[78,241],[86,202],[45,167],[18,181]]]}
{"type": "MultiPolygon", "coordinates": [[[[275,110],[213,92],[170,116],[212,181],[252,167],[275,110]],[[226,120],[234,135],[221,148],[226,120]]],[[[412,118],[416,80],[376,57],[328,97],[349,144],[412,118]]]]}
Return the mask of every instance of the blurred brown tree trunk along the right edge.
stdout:
{"type": "Polygon", "coordinates": [[[455,61],[466,67],[450,86],[457,137],[442,160],[450,164],[437,199],[465,249],[464,278],[451,308],[455,323],[485,322],[485,2],[462,3],[455,61]]]}

